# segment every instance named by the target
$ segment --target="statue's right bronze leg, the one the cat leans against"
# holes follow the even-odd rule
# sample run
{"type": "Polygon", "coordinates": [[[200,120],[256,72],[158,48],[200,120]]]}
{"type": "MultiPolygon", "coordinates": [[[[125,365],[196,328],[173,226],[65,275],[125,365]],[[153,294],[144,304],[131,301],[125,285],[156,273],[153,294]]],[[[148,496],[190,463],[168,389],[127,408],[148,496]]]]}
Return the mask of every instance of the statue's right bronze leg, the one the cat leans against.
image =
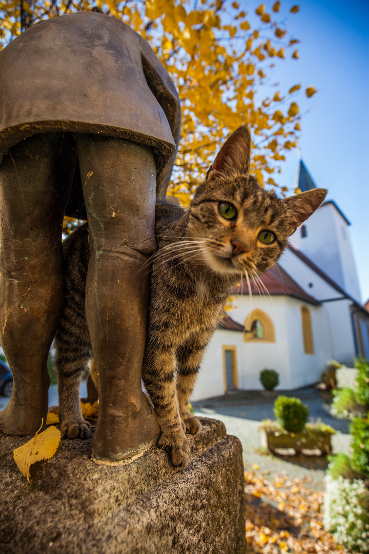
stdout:
{"type": "Polygon", "coordinates": [[[92,455],[122,460],[155,444],[159,425],[141,391],[155,251],[156,169],[147,147],[123,139],[74,135],[92,255],[86,319],[99,380],[92,455]]]}

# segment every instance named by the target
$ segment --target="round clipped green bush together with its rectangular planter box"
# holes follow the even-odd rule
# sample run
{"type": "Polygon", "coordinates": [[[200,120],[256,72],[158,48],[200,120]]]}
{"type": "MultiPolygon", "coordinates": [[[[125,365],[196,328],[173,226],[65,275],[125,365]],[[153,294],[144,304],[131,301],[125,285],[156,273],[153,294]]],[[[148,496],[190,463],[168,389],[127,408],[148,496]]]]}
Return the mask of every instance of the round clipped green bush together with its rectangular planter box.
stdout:
{"type": "Polygon", "coordinates": [[[309,408],[299,398],[279,396],[274,404],[276,421],[263,422],[262,446],[270,452],[292,448],[296,454],[302,450],[319,449],[322,455],[331,454],[331,435],[335,430],[321,422],[306,423],[309,408]]]}

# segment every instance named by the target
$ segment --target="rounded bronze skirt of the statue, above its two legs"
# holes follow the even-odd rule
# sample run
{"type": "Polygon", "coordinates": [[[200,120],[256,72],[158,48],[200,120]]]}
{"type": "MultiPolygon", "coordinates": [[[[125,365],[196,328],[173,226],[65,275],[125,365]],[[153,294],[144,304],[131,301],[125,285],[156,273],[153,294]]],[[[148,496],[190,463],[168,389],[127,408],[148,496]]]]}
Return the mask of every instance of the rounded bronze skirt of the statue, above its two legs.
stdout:
{"type": "Polygon", "coordinates": [[[0,53],[0,155],[39,132],[117,136],[152,147],[164,199],[178,148],[178,94],[148,43],[115,17],[32,25],[0,53]]]}

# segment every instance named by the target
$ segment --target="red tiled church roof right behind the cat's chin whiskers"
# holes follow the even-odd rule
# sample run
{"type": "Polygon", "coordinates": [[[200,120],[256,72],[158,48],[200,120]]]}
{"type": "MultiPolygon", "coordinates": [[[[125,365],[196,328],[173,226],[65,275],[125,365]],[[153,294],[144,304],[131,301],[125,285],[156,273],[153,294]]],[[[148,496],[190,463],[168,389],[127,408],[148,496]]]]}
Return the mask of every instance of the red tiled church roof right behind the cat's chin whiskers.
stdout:
{"type": "MultiPolygon", "coordinates": [[[[271,269],[266,271],[261,275],[260,279],[262,280],[264,286],[267,288],[269,294],[273,296],[292,296],[303,300],[304,302],[309,302],[310,304],[319,305],[319,302],[306,294],[302,288],[294,281],[290,276],[278,265],[274,265],[271,269]]],[[[251,281],[251,291],[252,294],[266,294],[260,284],[251,281]]],[[[235,287],[233,289],[233,294],[248,294],[248,287],[246,281],[243,281],[241,286],[235,287]]]]}

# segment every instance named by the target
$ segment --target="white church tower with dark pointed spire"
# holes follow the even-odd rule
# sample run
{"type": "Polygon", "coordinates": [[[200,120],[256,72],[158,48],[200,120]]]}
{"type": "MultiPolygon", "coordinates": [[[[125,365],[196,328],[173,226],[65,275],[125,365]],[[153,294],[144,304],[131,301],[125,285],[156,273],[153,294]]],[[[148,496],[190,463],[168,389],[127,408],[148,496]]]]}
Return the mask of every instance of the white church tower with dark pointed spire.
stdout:
{"type": "MultiPolygon", "coordinates": [[[[300,161],[298,187],[302,192],[315,187],[304,162],[300,161]]],[[[337,204],[328,200],[290,237],[290,243],[323,270],[347,294],[361,303],[349,220],[337,204]]]]}

